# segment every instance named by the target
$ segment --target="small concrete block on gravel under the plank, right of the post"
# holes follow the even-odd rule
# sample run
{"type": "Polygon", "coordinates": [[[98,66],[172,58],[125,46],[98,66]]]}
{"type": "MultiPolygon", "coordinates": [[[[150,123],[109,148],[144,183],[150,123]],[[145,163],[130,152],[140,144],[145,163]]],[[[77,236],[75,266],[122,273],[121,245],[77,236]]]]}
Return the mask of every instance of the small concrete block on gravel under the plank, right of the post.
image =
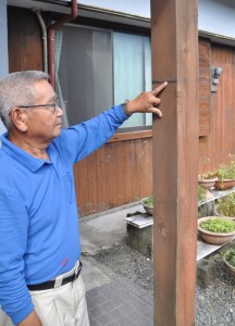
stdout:
{"type": "Polygon", "coordinates": [[[206,259],[197,263],[197,284],[207,288],[215,280],[215,265],[206,259]]]}

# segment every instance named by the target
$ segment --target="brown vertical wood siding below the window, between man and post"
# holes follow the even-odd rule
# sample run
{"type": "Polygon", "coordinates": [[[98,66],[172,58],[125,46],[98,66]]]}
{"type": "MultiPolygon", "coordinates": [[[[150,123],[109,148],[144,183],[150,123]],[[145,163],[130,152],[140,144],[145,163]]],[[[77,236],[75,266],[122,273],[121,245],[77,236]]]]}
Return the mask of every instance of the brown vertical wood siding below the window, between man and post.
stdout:
{"type": "Polygon", "coordinates": [[[74,166],[81,216],[152,192],[152,138],[108,142],[74,166]]]}

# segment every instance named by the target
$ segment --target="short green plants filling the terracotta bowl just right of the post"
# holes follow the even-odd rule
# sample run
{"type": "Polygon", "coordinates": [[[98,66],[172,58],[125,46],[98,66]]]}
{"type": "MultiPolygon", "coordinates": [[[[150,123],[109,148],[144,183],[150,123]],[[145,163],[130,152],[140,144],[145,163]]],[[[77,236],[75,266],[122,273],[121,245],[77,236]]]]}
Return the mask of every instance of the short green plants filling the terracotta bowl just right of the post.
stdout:
{"type": "Polygon", "coordinates": [[[200,227],[217,234],[228,234],[235,231],[235,222],[223,217],[210,218],[201,222],[200,227]]]}

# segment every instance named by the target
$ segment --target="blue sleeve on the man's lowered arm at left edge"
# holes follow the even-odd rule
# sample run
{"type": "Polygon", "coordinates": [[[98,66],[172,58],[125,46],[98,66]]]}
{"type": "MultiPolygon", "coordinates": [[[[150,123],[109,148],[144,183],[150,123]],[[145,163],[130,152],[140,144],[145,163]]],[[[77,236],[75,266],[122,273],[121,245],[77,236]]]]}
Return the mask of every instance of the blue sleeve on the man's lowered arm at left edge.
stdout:
{"type": "Polygon", "coordinates": [[[14,324],[34,305],[24,279],[28,216],[17,193],[0,189],[0,305],[14,324]]]}

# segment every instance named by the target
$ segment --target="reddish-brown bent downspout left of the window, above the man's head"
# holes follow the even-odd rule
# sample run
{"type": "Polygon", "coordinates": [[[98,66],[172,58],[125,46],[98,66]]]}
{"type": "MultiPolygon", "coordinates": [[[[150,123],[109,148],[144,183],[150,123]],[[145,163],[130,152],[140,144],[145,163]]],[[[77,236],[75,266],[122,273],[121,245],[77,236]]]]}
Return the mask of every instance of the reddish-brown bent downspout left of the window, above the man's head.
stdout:
{"type": "Polygon", "coordinates": [[[77,0],[72,0],[72,12],[71,14],[60,18],[52,25],[50,25],[47,29],[48,34],[48,73],[50,75],[50,84],[54,88],[55,80],[54,80],[54,30],[65,23],[69,23],[77,17],[78,9],[77,9],[77,0]]]}

